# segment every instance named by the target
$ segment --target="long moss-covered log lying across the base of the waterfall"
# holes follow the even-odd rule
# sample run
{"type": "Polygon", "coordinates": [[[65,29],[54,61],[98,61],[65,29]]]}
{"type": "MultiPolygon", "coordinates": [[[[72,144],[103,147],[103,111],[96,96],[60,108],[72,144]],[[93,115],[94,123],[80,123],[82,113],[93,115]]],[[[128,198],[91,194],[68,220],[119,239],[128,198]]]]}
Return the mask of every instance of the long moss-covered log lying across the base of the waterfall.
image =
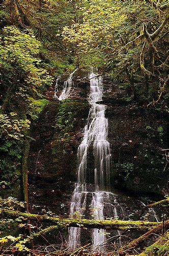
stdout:
{"type": "Polygon", "coordinates": [[[14,210],[0,209],[3,217],[18,218],[24,217],[27,220],[54,223],[56,225],[65,225],[67,227],[85,227],[85,228],[104,228],[104,229],[139,229],[147,230],[155,227],[159,223],[148,221],[121,221],[121,220],[86,220],[86,219],[62,219],[59,217],[49,217],[45,215],[29,214],[14,210]]]}

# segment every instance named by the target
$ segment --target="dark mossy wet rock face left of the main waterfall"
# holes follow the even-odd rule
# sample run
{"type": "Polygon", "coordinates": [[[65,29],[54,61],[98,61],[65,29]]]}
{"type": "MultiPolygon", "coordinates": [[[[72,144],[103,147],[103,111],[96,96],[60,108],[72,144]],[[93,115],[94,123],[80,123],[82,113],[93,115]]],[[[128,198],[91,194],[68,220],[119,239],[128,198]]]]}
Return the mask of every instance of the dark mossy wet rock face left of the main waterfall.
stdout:
{"type": "MultiPolygon", "coordinates": [[[[67,99],[47,104],[32,128],[35,141],[29,156],[31,205],[69,212],[76,180],[76,154],[89,113],[87,100],[67,99]],[[63,205],[64,206],[61,206],[63,205]]],[[[37,208],[32,208],[35,212],[37,208]]]]}

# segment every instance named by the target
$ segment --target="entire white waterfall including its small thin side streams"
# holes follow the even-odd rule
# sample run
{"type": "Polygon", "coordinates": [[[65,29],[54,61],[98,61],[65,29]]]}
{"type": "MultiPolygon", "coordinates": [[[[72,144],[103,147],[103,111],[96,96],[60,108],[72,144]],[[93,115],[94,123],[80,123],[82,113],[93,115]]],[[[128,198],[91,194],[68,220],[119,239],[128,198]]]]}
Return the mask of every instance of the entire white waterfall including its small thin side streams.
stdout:
{"type": "MultiPolygon", "coordinates": [[[[76,69],[77,70],[77,69],[76,69]]],[[[70,95],[70,90],[73,87],[73,71],[68,80],[64,82],[64,90],[59,99],[66,99],[70,95]]],[[[107,216],[111,218],[125,217],[123,207],[118,203],[117,196],[109,191],[110,187],[110,164],[111,153],[110,144],[107,140],[108,120],[105,118],[106,105],[101,104],[103,83],[102,77],[95,74],[91,69],[90,75],[90,94],[89,104],[90,111],[87,119],[87,124],[83,130],[83,138],[77,151],[77,182],[72,193],[70,205],[70,218],[90,218],[95,220],[104,220],[107,216]],[[89,161],[91,148],[94,156],[94,186],[89,184],[91,177],[89,172],[89,161]],[[90,149],[90,153],[89,153],[90,149]]],[[[58,81],[57,81],[58,83],[58,81]]],[[[143,204],[143,203],[142,203],[143,204]]],[[[149,209],[152,212],[156,221],[158,221],[154,209],[149,209]]],[[[116,231],[120,236],[121,232],[116,231]]],[[[104,229],[92,230],[92,249],[93,252],[104,253],[106,251],[106,232],[104,229]]],[[[81,246],[81,228],[69,228],[69,249],[75,250],[81,246]]],[[[117,239],[121,245],[121,237],[117,239]]]]}

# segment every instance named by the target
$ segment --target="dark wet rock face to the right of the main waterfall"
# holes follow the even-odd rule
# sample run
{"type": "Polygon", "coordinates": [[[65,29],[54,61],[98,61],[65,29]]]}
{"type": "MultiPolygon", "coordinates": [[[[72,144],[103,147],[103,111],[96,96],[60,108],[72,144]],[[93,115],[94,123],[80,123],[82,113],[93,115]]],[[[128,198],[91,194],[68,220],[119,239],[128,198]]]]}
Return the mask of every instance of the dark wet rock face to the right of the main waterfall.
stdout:
{"type": "Polygon", "coordinates": [[[124,89],[105,83],[111,185],[135,194],[163,194],[167,173],[166,158],[160,148],[166,148],[166,114],[140,107],[124,97],[124,89]]]}

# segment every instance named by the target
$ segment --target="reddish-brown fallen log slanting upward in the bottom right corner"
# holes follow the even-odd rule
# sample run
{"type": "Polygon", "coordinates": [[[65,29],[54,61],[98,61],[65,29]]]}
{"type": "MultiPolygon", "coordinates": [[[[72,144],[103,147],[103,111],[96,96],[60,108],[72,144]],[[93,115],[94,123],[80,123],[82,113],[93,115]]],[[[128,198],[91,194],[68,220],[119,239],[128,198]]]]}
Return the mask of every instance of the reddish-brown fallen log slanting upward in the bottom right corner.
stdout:
{"type": "MultiPolygon", "coordinates": [[[[159,234],[161,233],[162,230],[162,223],[159,224],[159,222],[157,222],[158,226],[152,228],[151,230],[149,230],[147,233],[143,234],[143,236],[134,239],[133,241],[131,241],[129,244],[125,245],[124,247],[120,248],[120,250],[118,251],[120,255],[126,255],[123,253],[128,252],[128,250],[132,250],[133,248],[137,247],[139,244],[149,240],[149,238],[152,236],[152,234],[159,234]]],[[[169,226],[169,220],[164,222],[164,227],[165,229],[167,229],[169,226]]]]}

